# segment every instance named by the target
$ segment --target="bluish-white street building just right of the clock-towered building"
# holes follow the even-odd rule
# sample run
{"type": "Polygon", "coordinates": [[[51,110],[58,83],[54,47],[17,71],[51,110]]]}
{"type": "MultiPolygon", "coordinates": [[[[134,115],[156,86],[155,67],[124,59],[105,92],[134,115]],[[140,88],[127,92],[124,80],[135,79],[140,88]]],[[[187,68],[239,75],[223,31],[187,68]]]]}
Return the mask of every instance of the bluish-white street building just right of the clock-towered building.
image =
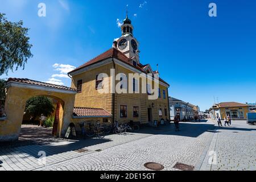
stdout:
{"type": "Polygon", "coordinates": [[[197,106],[189,104],[188,102],[181,101],[174,97],[169,97],[170,104],[170,118],[174,120],[175,115],[180,120],[194,119],[197,112],[197,106]]]}

